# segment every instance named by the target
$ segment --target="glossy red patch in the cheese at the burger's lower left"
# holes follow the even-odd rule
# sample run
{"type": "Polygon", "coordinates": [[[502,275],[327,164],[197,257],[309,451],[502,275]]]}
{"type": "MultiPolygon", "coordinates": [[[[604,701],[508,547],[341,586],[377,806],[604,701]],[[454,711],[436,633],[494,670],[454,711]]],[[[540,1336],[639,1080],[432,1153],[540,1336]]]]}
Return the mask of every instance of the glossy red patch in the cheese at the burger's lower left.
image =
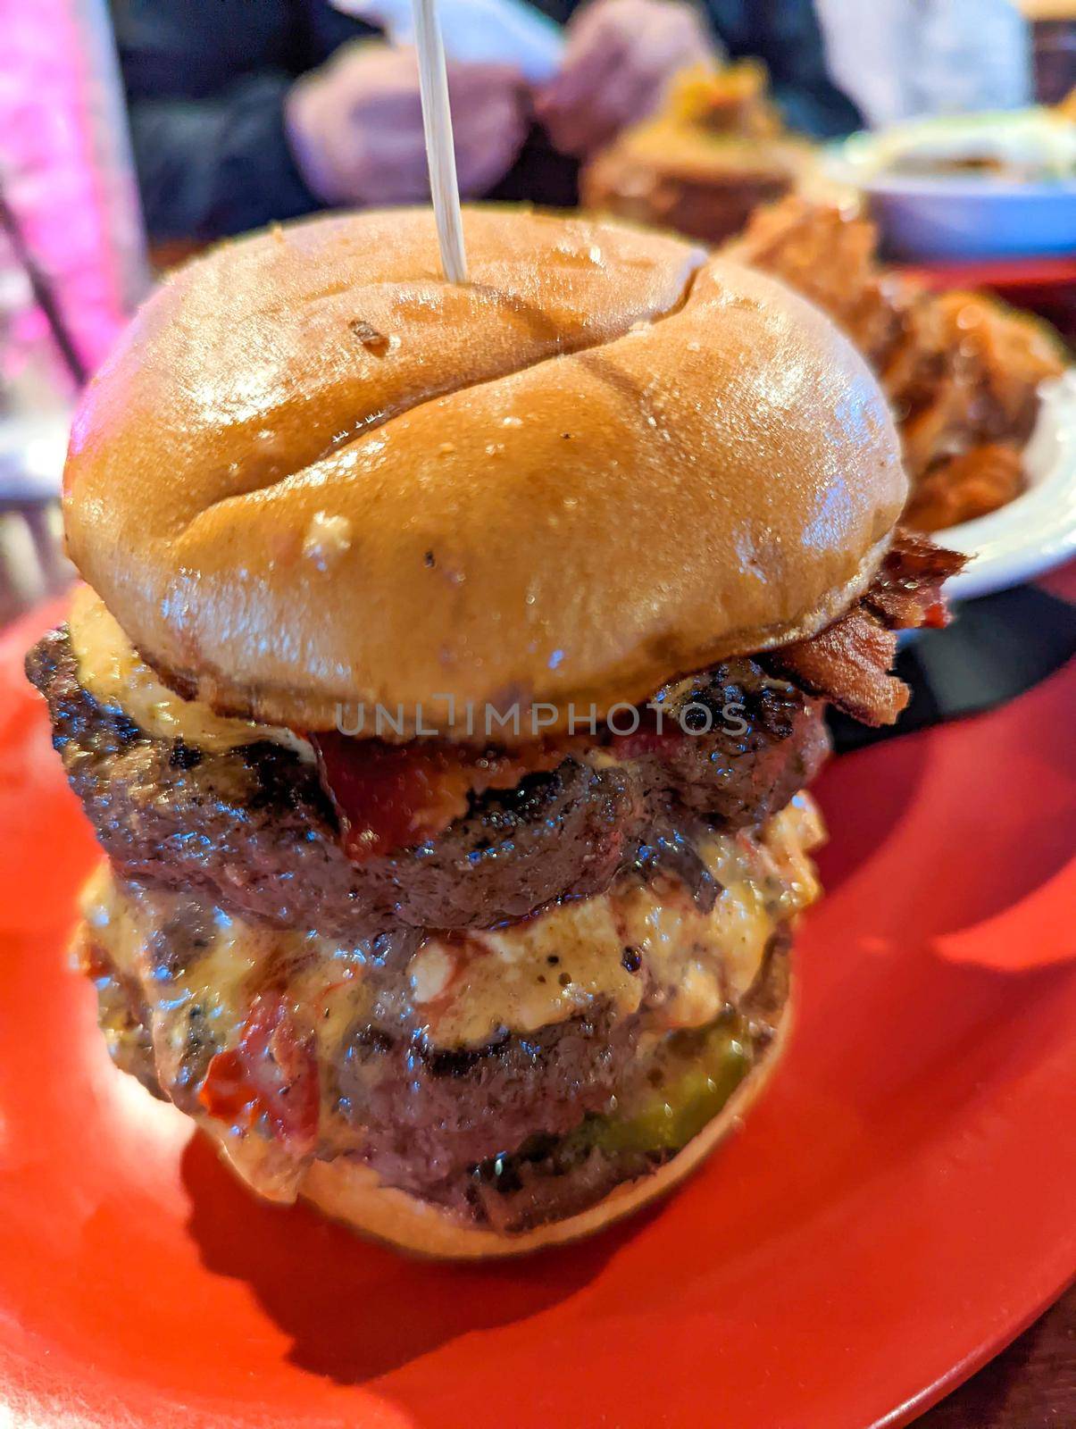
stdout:
{"type": "Polygon", "coordinates": [[[253,1126],[264,1116],[296,1155],[314,1149],[320,1087],[309,1042],[296,1033],[280,993],[251,1003],[239,1045],[217,1052],[199,1089],[210,1116],[253,1126]]]}

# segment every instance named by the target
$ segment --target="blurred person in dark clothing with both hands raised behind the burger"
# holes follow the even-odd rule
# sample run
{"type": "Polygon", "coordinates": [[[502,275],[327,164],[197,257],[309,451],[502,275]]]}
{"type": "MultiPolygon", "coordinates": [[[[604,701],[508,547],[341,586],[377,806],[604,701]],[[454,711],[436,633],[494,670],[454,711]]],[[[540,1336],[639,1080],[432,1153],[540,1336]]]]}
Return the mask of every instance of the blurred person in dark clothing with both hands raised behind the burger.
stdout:
{"type": "MultiPolygon", "coordinates": [[[[552,83],[450,63],[467,199],[573,204],[579,160],[647,117],[676,70],[723,51],[766,61],[794,127],[860,123],[826,74],[810,0],[534,3],[566,26],[552,83]]],[[[427,196],[413,54],[327,0],[113,0],[113,19],[154,239],[427,196]]]]}

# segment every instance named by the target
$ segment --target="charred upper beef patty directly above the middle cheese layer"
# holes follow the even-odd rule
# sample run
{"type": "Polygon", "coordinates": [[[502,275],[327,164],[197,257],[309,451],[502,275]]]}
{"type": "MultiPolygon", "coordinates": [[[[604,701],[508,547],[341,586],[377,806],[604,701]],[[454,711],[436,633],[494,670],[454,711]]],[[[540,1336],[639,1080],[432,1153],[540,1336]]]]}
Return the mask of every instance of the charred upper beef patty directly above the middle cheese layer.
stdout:
{"type": "Polygon", "coordinates": [[[694,876],[704,896],[692,829],[764,820],[810,782],[827,749],[819,700],[753,660],[730,660],[677,690],[679,702],[713,712],[710,733],[613,740],[514,789],[472,796],[437,837],[357,865],[316,767],[292,750],[217,753],[149,735],[81,687],[63,626],[30,652],[27,674],[121,877],[339,937],[399,922],[492,927],[603,892],[633,866],[694,876]]]}

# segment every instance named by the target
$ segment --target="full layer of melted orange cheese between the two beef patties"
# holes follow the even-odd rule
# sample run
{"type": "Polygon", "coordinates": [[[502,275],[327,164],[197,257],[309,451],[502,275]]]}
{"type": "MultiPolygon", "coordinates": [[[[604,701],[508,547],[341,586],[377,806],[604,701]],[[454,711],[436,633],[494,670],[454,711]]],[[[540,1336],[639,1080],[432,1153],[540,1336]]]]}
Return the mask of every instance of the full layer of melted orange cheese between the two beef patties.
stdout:
{"type": "Polygon", "coordinates": [[[624,1017],[644,1006],[672,1030],[704,1026],[743,997],[773,932],[819,896],[809,855],[820,839],[815,805],[797,795],[760,830],[703,840],[702,857],[720,885],[710,912],[676,879],[626,879],[507,927],[432,933],[387,992],[383,972],[373,990],[363,946],[119,883],[107,866],[87,887],[83,913],[93,942],[139,985],[166,1062],[179,1052],[186,1007],[197,1006],[219,1043],[231,1045],[251,1000],[282,973],[289,1003],[326,1059],[356,1025],[386,1013],[419,1026],[437,1049],[484,1046],[597,1006],[624,1017]],[[199,950],[186,947],[161,976],[169,940],[196,915],[199,950]]]}

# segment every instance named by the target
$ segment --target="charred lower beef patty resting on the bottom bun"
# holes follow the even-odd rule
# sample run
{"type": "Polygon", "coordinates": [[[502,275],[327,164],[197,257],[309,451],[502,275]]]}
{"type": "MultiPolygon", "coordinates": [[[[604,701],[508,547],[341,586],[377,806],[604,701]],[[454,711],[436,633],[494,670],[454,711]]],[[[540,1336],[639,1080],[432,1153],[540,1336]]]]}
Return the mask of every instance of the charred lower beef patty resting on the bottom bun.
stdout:
{"type": "MultiPolygon", "coordinates": [[[[783,927],[737,1013],[739,1076],[780,1020],[789,945],[783,927]]],[[[650,1027],[646,1012],[616,1020],[599,1009],[467,1052],[357,1035],[336,1069],[337,1089],[363,1123],[360,1159],[386,1185],[519,1232],[574,1215],[680,1149],[660,1123],[652,1142],[646,1119],[627,1129],[640,1107],[676,1099],[676,1070],[702,1065],[713,1029],[654,1039],[650,1027]]],[[[714,1087],[702,1123],[739,1076],[714,1087]]]]}

